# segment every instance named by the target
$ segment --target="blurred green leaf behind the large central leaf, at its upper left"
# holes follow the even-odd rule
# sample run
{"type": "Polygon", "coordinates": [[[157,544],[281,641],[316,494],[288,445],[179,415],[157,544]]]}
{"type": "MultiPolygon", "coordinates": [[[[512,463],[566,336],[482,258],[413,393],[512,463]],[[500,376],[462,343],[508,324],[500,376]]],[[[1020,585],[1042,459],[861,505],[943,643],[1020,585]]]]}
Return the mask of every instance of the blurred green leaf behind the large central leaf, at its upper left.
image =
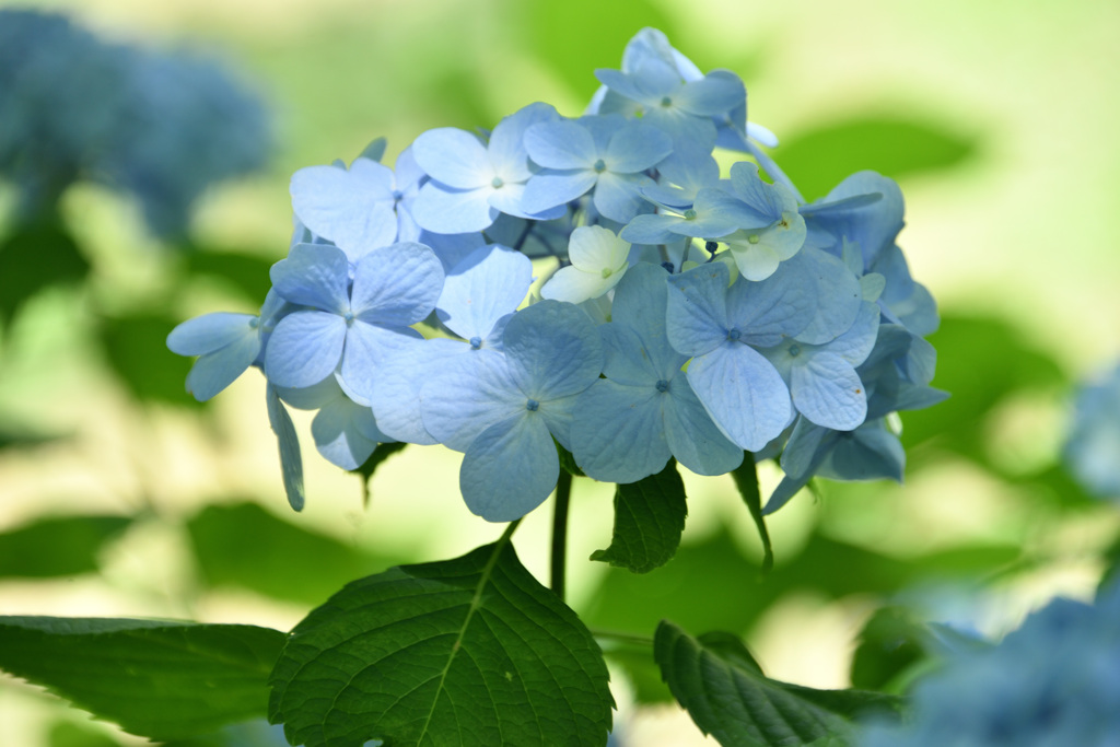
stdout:
{"type": "Polygon", "coordinates": [[[255,503],[207,506],[187,531],[211,586],[241,586],[304,604],[319,604],[351,579],[404,560],[301,529],[255,503]]]}

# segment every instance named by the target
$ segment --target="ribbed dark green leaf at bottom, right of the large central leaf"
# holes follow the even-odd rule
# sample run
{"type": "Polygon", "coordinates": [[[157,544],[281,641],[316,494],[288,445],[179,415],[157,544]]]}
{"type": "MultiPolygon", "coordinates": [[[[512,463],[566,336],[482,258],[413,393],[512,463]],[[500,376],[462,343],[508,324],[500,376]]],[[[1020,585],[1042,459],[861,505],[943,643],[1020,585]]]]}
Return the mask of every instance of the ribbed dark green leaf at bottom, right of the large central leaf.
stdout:
{"type": "Polygon", "coordinates": [[[721,745],[799,747],[849,744],[851,718],[895,712],[898,700],[856,690],[813,690],[767,679],[746,648],[727,634],[702,639],[662,622],[654,657],[669,689],[696,721],[721,745]],[[749,654],[747,654],[749,656],[749,654]]]}

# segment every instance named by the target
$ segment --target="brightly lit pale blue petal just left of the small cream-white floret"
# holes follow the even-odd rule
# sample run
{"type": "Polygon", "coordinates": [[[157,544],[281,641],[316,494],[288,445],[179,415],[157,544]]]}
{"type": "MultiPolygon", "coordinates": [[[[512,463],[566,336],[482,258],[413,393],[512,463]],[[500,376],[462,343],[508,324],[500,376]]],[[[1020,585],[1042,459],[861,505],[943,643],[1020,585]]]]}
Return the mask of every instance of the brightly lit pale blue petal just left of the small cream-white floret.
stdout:
{"type": "Polygon", "coordinates": [[[483,246],[447,276],[436,311],[459,337],[485,339],[500,318],[516,310],[532,282],[528,256],[505,246],[483,246]]]}

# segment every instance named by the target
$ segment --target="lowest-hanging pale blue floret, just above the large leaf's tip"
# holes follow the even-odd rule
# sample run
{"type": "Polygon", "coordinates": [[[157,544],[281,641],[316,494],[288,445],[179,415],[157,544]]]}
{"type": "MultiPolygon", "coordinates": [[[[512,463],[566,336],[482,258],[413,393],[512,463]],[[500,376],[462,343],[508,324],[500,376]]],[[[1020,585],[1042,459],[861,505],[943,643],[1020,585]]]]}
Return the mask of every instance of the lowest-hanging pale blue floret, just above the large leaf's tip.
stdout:
{"type": "Polygon", "coordinates": [[[553,438],[571,448],[577,396],[603,371],[603,344],[570,304],[541,301],[515,314],[505,353],[478,351],[429,372],[424,427],[464,451],[459,488],[472,512],[520,519],[552,492],[560,474],[553,438]]]}

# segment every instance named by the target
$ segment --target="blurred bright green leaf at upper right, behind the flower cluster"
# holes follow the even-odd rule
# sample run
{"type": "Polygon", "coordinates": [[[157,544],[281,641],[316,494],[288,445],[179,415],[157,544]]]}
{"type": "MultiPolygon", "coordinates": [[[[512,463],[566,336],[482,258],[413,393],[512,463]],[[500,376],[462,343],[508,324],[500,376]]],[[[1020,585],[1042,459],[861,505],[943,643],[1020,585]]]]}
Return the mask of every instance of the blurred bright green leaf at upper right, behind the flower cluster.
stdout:
{"type": "Polygon", "coordinates": [[[971,140],[931,122],[859,116],[788,138],[774,157],[805,198],[815,199],[855,171],[899,179],[958,166],[974,153],[971,140]]]}

